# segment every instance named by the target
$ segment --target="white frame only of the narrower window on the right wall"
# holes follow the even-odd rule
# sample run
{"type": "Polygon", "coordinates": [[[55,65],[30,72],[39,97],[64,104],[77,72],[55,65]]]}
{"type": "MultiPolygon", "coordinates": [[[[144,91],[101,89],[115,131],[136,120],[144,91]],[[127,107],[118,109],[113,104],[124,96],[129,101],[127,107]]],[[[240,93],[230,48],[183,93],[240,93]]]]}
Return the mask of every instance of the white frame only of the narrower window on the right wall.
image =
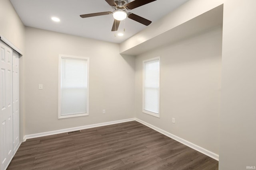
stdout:
{"type": "Polygon", "coordinates": [[[160,118],[160,57],[154,57],[154,58],[142,61],[142,113],[146,113],[146,114],[160,118]],[[145,63],[150,62],[150,61],[156,61],[156,60],[158,60],[158,113],[144,109],[144,106],[145,106],[145,94],[144,94],[145,63]]]}

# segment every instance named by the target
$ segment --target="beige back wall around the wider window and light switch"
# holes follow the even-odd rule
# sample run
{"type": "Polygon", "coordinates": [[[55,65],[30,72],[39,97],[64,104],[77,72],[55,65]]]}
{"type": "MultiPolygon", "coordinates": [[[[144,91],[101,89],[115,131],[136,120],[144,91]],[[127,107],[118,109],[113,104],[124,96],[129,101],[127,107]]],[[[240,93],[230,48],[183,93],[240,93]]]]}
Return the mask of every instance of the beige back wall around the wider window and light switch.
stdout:
{"type": "Polygon", "coordinates": [[[118,44],[26,27],[24,60],[26,135],[135,116],[135,58],[118,44]],[[59,54],[90,57],[89,116],[58,119],[59,54]]]}

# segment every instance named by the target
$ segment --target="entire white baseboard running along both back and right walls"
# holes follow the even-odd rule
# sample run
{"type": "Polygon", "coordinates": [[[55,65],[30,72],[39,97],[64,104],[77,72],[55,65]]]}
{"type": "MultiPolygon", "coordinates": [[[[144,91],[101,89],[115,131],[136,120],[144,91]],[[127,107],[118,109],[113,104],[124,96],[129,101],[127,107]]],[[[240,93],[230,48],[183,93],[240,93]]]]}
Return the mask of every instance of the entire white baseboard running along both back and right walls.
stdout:
{"type": "Polygon", "coordinates": [[[191,143],[189,141],[186,141],[185,139],[182,139],[176,135],[173,135],[167,131],[164,131],[158,127],[155,127],[154,125],[151,125],[149,123],[146,123],[140,119],[137,118],[131,118],[131,119],[123,119],[123,120],[118,120],[118,121],[109,121],[109,122],[104,122],[104,123],[97,123],[97,124],[92,124],[92,125],[85,125],[85,126],[79,126],[79,127],[72,127],[68,129],[60,129],[56,131],[49,131],[49,132],[43,132],[43,133],[36,133],[36,134],[31,134],[31,135],[25,135],[23,138],[23,141],[25,142],[26,139],[31,139],[31,138],[36,138],[36,137],[43,137],[43,136],[48,136],[48,135],[55,135],[59,133],[66,133],[70,131],[77,131],[77,130],[82,130],[82,129],[89,129],[93,127],[100,127],[100,126],[106,126],[106,125],[113,125],[117,123],[124,123],[128,121],[138,121],[139,123],[142,123],[143,125],[146,125],[147,127],[150,127],[151,129],[154,129],[155,131],[158,131],[159,133],[162,133],[163,135],[166,135],[167,137],[170,137],[174,139],[175,141],[178,141],[194,150],[197,150],[198,152],[201,152],[202,154],[205,154],[215,160],[219,160],[219,155],[211,152],[210,150],[204,149],[198,145],[195,145],[194,143],[191,143]]]}

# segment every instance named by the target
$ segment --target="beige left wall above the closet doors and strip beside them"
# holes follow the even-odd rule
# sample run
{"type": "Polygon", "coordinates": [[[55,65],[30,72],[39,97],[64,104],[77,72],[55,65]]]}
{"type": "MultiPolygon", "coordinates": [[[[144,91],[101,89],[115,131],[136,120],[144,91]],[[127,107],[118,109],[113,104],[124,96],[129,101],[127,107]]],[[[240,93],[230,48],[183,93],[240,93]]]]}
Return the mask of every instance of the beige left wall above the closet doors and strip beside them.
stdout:
{"type": "MultiPolygon", "coordinates": [[[[10,0],[1,0],[0,1],[0,35],[4,36],[8,41],[14,44],[18,49],[20,49],[25,55],[25,27],[20,20],[18,14],[14,10],[10,0]]],[[[23,138],[25,133],[24,122],[24,94],[23,94],[23,58],[20,58],[20,139],[23,138]]]]}

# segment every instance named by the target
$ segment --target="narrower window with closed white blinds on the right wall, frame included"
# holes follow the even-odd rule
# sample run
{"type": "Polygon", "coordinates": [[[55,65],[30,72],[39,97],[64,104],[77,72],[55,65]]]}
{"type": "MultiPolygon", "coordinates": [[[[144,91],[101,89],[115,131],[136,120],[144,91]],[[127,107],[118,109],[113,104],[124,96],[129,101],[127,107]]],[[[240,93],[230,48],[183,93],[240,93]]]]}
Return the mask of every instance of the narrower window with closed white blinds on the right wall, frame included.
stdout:
{"type": "Polygon", "coordinates": [[[142,112],[148,113],[156,117],[160,117],[159,61],[160,57],[143,61],[142,112]]]}

